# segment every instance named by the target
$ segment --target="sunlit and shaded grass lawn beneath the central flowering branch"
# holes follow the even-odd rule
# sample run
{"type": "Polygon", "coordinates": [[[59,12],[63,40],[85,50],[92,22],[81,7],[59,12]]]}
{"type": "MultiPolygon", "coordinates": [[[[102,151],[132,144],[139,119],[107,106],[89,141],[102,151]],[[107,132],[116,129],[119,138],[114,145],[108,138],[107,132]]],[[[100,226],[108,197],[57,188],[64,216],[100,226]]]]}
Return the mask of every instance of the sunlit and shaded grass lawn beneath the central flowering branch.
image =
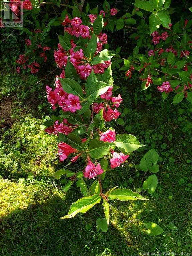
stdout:
{"type": "MultiPolygon", "coordinates": [[[[10,75],[4,74],[2,83],[3,101],[9,97],[15,106],[9,109],[12,122],[7,125],[10,119],[7,116],[2,123],[2,256],[137,256],[147,252],[192,252],[192,107],[189,103],[184,101],[175,106],[168,101],[162,103],[160,95],[151,89],[139,92],[137,77],[126,83],[120,75],[116,77],[116,83],[122,86],[124,103],[118,126],[112,125],[138,135],[146,147],[132,154],[124,168],[107,174],[104,190],[119,185],[140,191],[142,182],[150,174],[140,171],[138,164],[151,148],[159,153],[160,172],[155,193],[142,192],[149,201],[110,201],[109,229],[102,233],[96,232],[96,219],[103,216],[101,204],[73,219],[60,219],[71,203],[81,197],[79,188],[73,186],[64,193],[62,187],[66,179],[53,178],[61,164],[56,155],[57,138],[45,134],[42,126],[45,115],[49,114],[43,84],[38,87],[42,95],[39,105],[28,104],[27,77],[12,76],[10,79],[10,75]],[[144,226],[148,221],[157,223],[164,232],[156,237],[148,236],[144,226]],[[168,228],[170,222],[177,226],[176,231],[168,228]]],[[[29,76],[29,81],[30,90],[35,90],[35,76],[29,76]]]]}

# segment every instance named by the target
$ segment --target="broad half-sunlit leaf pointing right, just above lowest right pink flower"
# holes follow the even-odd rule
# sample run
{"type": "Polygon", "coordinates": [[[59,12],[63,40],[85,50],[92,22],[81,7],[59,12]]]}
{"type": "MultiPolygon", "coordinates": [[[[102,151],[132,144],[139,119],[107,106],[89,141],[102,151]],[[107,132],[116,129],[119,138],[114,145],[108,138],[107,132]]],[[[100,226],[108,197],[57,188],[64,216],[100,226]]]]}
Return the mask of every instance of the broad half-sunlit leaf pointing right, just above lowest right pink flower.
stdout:
{"type": "Polygon", "coordinates": [[[116,135],[116,140],[114,143],[119,150],[129,153],[145,146],[142,145],[133,135],[126,133],[116,135]]]}

